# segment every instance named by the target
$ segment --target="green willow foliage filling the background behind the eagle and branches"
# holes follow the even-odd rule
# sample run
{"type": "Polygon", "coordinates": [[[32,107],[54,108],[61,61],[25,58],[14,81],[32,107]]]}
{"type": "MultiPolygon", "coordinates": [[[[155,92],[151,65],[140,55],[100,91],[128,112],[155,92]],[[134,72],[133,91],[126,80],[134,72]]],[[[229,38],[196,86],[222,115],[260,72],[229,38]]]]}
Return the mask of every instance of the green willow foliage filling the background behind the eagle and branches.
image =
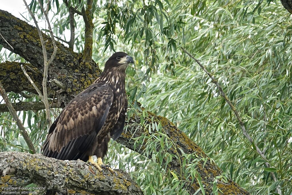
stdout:
{"type": "MultiPolygon", "coordinates": [[[[135,59],[135,65],[127,70],[129,103],[134,101],[128,117],[138,114],[139,100],[147,110],[178,125],[225,172],[210,184],[213,194],[220,194],[216,184],[227,176],[251,194],[275,194],[277,185],[283,195],[292,193],[292,24],[279,1],[93,2],[93,59],[101,68],[111,51],[126,51],[135,59]],[[211,79],[181,47],[218,79],[272,167],[267,168],[211,79]],[[273,181],[271,172],[278,182],[273,181]]],[[[69,40],[64,35],[69,30],[68,9],[58,3],[52,1],[49,13],[53,30],[56,36],[69,40]]],[[[68,3],[81,11],[86,1],[68,3]]],[[[41,15],[36,1],[29,6],[41,15]]],[[[82,52],[82,17],[75,15],[75,22],[74,50],[82,52]]],[[[5,53],[1,46],[0,51],[5,60],[24,61],[5,53]]],[[[9,95],[11,100],[32,101],[18,94],[9,95]]],[[[23,111],[19,115],[39,151],[47,131],[44,111],[23,111]]],[[[174,143],[159,122],[145,125],[145,112],[141,119],[139,127],[149,134],[131,141],[149,158],[112,141],[109,163],[127,170],[145,194],[188,194],[183,188],[187,183],[181,179],[182,173],[197,180],[200,188],[196,193],[205,194],[195,168],[197,161],[206,159],[195,154],[168,153],[174,143]],[[142,143],[146,148],[140,148],[142,143]],[[162,166],[164,158],[167,163],[182,156],[182,166],[188,166],[181,172],[162,166]]],[[[0,122],[0,150],[27,151],[11,116],[2,113],[0,122]]]]}

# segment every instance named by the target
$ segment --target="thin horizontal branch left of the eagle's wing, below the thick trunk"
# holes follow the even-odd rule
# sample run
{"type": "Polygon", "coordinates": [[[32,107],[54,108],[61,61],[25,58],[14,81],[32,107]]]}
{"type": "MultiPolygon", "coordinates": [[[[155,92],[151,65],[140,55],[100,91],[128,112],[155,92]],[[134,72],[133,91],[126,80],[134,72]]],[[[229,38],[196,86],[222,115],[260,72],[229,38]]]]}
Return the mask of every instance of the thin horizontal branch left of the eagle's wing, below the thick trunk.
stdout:
{"type": "MultiPolygon", "coordinates": [[[[51,108],[62,108],[58,102],[52,103],[52,101],[49,101],[49,103],[51,104],[51,108]]],[[[44,103],[41,101],[20,101],[13,103],[12,106],[15,111],[39,111],[46,108],[44,103]]],[[[1,112],[9,112],[6,104],[0,104],[0,113],[1,112]]]]}

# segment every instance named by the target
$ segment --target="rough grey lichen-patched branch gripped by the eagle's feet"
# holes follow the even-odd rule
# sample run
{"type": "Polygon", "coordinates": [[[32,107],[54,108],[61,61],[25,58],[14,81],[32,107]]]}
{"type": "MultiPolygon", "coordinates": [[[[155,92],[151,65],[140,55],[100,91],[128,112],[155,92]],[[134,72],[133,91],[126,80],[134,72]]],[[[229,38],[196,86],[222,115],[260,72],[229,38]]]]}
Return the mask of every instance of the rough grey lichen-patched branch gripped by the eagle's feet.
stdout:
{"type": "Polygon", "coordinates": [[[61,161],[41,154],[1,152],[0,165],[0,191],[2,187],[34,183],[56,191],[68,188],[68,194],[143,194],[123,170],[116,169],[117,175],[109,171],[102,175],[80,160],[61,161]]]}

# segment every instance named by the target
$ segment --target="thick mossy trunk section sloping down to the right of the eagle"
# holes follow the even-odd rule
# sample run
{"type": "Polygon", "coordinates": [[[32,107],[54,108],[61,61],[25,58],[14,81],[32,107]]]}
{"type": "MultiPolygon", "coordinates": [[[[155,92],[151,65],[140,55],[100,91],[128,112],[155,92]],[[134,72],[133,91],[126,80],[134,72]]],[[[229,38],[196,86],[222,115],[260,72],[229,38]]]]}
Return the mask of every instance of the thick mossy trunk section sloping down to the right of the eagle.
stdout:
{"type": "MultiPolygon", "coordinates": [[[[208,158],[208,156],[204,153],[204,151],[195,144],[192,140],[190,140],[185,133],[179,130],[171,121],[167,118],[154,115],[153,113],[148,112],[148,117],[145,118],[146,124],[150,124],[151,121],[160,122],[163,131],[165,134],[172,140],[173,146],[167,150],[168,153],[171,153],[178,157],[178,159],[173,159],[168,165],[169,170],[175,170],[178,174],[181,174],[181,169],[186,169],[186,167],[181,167],[181,163],[184,161],[184,157],[180,151],[180,149],[186,154],[196,154],[198,158],[208,158]]],[[[145,149],[146,144],[143,142],[142,145],[134,147],[134,140],[132,138],[140,137],[141,135],[149,134],[148,128],[141,128],[140,126],[140,115],[136,114],[131,117],[131,119],[126,122],[127,131],[123,132],[121,137],[117,139],[117,142],[123,144],[127,148],[134,150],[144,156],[146,153],[143,151],[145,149]],[[141,149],[140,149],[141,148],[141,149]]],[[[157,133],[156,131],[152,131],[152,134],[157,133]]],[[[152,140],[155,141],[155,140],[152,140]]],[[[160,145],[160,143],[158,143],[160,145]]],[[[149,153],[151,157],[152,154],[149,153]]],[[[165,167],[165,162],[162,162],[162,167],[165,167]]],[[[196,166],[197,172],[199,172],[201,178],[204,178],[203,184],[205,185],[204,190],[206,194],[212,194],[212,186],[213,181],[216,176],[222,175],[223,171],[215,164],[211,163],[210,160],[202,161],[200,160],[196,166]]],[[[193,194],[200,188],[199,184],[195,180],[193,183],[192,178],[188,177],[188,175],[181,175],[181,179],[189,181],[186,184],[186,189],[189,191],[190,194],[193,194]]],[[[203,180],[203,179],[202,179],[203,180]]],[[[248,195],[249,193],[239,187],[235,182],[232,180],[228,180],[228,182],[218,183],[217,187],[223,192],[223,194],[233,194],[233,195],[248,195]]],[[[220,194],[220,193],[219,193],[220,194]]]]}

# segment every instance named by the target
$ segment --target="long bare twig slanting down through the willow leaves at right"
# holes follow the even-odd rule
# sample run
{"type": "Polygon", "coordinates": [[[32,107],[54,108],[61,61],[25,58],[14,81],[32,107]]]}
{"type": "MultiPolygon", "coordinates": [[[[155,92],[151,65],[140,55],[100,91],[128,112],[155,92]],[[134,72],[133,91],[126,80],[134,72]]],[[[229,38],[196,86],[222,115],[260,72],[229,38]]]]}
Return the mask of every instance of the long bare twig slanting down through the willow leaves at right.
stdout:
{"type": "MultiPolygon", "coordinates": [[[[198,65],[204,70],[204,72],[205,72],[205,73],[206,73],[206,74],[212,79],[211,82],[213,82],[213,83],[217,86],[217,88],[218,88],[218,90],[219,90],[221,96],[225,99],[225,101],[229,104],[231,110],[234,112],[234,114],[235,114],[237,120],[239,121],[239,125],[240,125],[240,127],[241,127],[241,129],[242,129],[242,133],[243,133],[244,136],[248,139],[248,141],[250,141],[251,144],[253,144],[253,145],[256,147],[256,152],[257,152],[257,153],[258,153],[258,154],[259,154],[259,155],[260,155],[265,161],[267,161],[267,162],[265,162],[265,165],[266,165],[267,167],[270,167],[271,165],[270,165],[270,163],[268,162],[268,160],[267,160],[265,154],[260,150],[260,148],[258,147],[258,145],[253,141],[253,139],[251,138],[251,136],[250,136],[250,135],[248,134],[248,132],[246,131],[246,128],[245,128],[245,126],[244,126],[244,123],[243,123],[241,117],[239,116],[239,114],[238,114],[236,108],[233,106],[233,104],[232,104],[232,102],[229,100],[229,98],[225,95],[225,93],[223,92],[222,88],[220,87],[218,81],[217,81],[217,80],[216,80],[216,79],[215,79],[215,78],[214,78],[214,77],[208,72],[208,70],[207,70],[203,65],[201,65],[201,63],[200,63],[199,60],[197,60],[196,58],[194,58],[194,56],[192,56],[189,52],[187,52],[187,50],[185,50],[183,47],[182,47],[181,49],[182,49],[182,50],[183,50],[188,56],[190,56],[192,59],[194,59],[194,60],[197,62],[197,64],[198,64],[198,65]]],[[[272,178],[273,178],[274,182],[277,182],[277,178],[276,178],[274,172],[271,172],[271,175],[272,175],[272,178]]],[[[278,192],[278,194],[280,194],[280,195],[282,194],[279,185],[277,185],[277,192],[278,192]]]]}

